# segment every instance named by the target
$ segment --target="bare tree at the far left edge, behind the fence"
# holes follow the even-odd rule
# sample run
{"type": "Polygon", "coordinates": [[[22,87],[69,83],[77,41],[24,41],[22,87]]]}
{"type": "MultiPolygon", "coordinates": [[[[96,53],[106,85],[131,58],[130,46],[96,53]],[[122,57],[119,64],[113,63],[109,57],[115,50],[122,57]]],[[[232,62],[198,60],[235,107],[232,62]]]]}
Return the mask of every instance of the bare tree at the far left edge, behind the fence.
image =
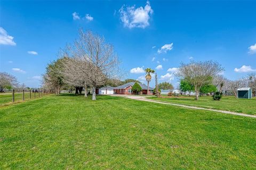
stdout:
{"type": "Polygon", "coordinates": [[[3,92],[4,88],[10,89],[15,86],[18,86],[17,78],[9,73],[0,72],[0,92],[3,92]]]}

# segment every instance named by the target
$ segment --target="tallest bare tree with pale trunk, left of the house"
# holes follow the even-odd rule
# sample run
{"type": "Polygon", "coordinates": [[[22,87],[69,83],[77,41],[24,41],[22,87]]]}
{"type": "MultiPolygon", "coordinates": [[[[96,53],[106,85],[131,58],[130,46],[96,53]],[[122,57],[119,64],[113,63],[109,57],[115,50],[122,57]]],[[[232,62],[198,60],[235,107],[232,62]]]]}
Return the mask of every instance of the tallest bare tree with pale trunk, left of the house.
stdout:
{"type": "Polygon", "coordinates": [[[92,88],[92,100],[96,99],[96,88],[115,80],[119,74],[119,60],[112,45],[91,31],[79,30],[79,38],[67,48],[64,55],[63,79],[85,88],[92,88]]]}

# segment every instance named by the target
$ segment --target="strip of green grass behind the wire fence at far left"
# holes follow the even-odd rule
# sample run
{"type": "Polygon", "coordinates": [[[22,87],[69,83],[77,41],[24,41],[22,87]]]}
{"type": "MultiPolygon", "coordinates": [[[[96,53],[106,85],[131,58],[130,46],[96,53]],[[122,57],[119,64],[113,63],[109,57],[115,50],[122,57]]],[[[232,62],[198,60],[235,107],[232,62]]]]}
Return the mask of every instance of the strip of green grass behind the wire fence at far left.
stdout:
{"type": "MultiPolygon", "coordinates": [[[[41,94],[40,94],[41,96],[41,94]]],[[[24,93],[25,100],[29,100],[29,92],[24,93]]],[[[31,99],[38,98],[38,92],[34,94],[34,92],[31,92],[31,99]]],[[[14,101],[21,101],[22,100],[22,93],[15,93],[14,94],[14,101]]],[[[11,93],[6,93],[6,94],[1,94],[0,93],[0,106],[4,105],[6,103],[11,103],[12,102],[12,94],[11,93]]]]}

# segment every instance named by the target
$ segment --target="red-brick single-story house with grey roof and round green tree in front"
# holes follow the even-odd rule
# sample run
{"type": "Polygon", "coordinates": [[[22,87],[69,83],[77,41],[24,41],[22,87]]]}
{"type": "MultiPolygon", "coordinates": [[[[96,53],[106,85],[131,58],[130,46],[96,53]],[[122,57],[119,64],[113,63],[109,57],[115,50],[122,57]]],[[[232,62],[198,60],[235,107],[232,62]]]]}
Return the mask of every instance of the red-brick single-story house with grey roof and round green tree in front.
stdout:
{"type": "MultiPolygon", "coordinates": [[[[120,95],[135,95],[135,92],[132,91],[132,86],[135,82],[129,82],[126,84],[123,84],[121,86],[114,87],[114,94],[120,94],[120,95]]],[[[140,87],[142,88],[142,95],[147,95],[148,87],[145,84],[140,84],[140,87]]],[[[149,87],[149,94],[153,95],[153,88],[149,87]]]]}

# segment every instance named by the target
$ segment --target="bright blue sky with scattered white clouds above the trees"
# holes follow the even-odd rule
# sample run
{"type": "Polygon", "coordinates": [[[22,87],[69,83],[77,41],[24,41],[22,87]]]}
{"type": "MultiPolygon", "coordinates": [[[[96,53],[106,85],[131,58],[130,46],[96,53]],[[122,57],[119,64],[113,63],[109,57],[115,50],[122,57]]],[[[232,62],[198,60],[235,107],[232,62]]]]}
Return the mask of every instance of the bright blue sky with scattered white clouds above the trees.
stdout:
{"type": "Polygon", "coordinates": [[[255,1],[0,3],[0,70],[30,87],[80,27],[114,45],[127,78],[145,81],[142,69],[151,67],[177,86],[173,72],[190,60],[217,61],[231,80],[256,72],[255,1]]]}

